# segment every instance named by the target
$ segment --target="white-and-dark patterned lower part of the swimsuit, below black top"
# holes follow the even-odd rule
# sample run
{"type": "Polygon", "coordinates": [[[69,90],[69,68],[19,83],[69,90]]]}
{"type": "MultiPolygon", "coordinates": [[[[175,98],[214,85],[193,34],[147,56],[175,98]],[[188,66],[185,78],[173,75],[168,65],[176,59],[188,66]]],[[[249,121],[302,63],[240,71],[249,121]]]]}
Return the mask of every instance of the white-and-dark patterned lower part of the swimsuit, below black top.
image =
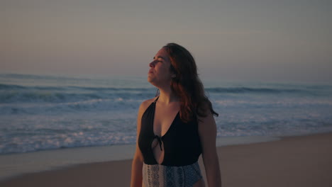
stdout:
{"type": "Polygon", "coordinates": [[[187,166],[143,164],[145,187],[192,187],[201,178],[198,162],[187,166]]]}

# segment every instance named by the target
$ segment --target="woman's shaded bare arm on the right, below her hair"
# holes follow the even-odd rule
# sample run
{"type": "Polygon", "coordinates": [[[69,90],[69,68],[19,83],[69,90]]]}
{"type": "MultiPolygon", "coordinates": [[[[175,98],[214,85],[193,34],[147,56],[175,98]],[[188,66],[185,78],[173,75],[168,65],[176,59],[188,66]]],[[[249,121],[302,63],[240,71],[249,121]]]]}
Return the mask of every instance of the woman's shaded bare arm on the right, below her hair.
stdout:
{"type": "Polygon", "coordinates": [[[201,139],[202,157],[209,187],[221,187],[221,173],[216,152],[216,121],[209,111],[204,118],[199,118],[199,137],[201,139]]]}

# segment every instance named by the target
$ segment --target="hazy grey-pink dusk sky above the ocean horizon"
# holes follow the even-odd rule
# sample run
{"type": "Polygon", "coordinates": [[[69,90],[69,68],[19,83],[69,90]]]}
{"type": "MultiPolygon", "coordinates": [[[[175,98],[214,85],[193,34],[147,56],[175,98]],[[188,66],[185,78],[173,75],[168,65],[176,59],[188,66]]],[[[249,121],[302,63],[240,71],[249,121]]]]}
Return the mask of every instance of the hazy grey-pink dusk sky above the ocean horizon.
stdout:
{"type": "Polygon", "coordinates": [[[332,84],[332,2],[1,0],[0,72],[146,76],[176,42],[200,77],[332,84]]]}

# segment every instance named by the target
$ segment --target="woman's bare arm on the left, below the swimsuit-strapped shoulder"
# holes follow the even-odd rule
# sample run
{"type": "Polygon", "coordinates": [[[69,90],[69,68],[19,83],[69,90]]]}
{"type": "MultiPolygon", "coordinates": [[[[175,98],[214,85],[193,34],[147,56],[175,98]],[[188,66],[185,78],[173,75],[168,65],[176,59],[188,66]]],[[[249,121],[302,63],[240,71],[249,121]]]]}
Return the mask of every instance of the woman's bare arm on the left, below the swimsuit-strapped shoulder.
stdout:
{"type": "Polygon", "coordinates": [[[143,168],[143,155],[138,147],[138,136],[140,135],[140,121],[144,111],[144,102],[140,104],[137,116],[137,137],[136,137],[136,150],[131,164],[131,187],[142,186],[142,168],[143,168]]]}

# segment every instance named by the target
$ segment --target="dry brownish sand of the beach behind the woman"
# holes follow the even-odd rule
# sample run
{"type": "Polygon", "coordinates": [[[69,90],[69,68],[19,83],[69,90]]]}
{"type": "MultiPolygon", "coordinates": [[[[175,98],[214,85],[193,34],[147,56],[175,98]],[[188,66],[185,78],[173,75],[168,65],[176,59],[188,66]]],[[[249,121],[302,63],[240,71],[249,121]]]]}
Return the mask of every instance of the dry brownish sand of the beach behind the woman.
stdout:
{"type": "MultiPolygon", "coordinates": [[[[332,186],[332,132],[218,147],[218,157],[223,186],[332,186]]],[[[128,159],[24,174],[0,186],[130,186],[130,179],[128,159]]]]}

